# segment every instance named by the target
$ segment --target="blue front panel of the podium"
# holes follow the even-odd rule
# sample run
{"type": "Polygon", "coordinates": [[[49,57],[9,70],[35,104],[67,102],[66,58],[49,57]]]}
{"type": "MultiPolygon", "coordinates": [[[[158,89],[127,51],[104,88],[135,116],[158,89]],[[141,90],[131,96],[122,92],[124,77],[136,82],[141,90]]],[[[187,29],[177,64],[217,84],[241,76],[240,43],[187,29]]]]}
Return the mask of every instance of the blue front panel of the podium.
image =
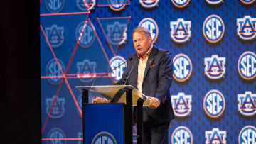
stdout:
{"type": "Polygon", "coordinates": [[[85,143],[124,143],[124,104],[85,104],[85,143]]]}

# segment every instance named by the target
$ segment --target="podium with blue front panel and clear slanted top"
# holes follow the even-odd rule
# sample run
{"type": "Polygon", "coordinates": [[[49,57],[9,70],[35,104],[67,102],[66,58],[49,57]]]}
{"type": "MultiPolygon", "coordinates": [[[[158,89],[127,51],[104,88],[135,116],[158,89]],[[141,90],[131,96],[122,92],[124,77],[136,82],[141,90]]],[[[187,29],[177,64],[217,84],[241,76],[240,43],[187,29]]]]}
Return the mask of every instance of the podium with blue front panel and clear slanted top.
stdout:
{"type": "Polygon", "coordinates": [[[132,85],[76,86],[76,88],[82,92],[83,143],[132,143],[132,106],[137,106],[137,143],[142,143],[142,108],[148,106],[150,102],[146,95],[132,85]],[[91,99],[106,98],[109,103],[88,104],[89,96],[91,99]],[[95,126],[92,126],[92,123],[95,126]],[[112,126],[109,126],[111,124],[112,126]],[[102,128],[105,126],[112,133],[117,133],[117,138],[102,128]],[[100,130],[97,131],[95,128],[100,130]],[[91,133],[94,134],[90,135],[91,133]],[[103,140],[105,142],[102,142],[103,140]]]}

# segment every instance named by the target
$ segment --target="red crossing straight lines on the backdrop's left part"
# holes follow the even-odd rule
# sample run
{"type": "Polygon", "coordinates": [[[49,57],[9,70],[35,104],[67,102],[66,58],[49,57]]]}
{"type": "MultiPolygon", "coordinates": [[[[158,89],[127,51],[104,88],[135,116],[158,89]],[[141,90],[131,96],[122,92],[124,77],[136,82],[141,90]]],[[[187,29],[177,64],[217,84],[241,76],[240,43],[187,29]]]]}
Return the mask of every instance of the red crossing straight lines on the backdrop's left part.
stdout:
{"type": "MultiPolygon", "coordinates": [[[[86,1],[84,1],[84,2],[86,3],[86,1]]],[[[85,4],[85,6],[88,6],[88,5],[85,4]]],[[[80,115],[82,117],[82,111],[80,109],[80,106],[78,105],[78,101],[75,99],[75,95],[73,94],[73,91],[72,91],[72,89],[70,87],[70,84],[68,83],[68,79],[78,79],[78,78],[80,78],[79,76],[82,75],[82,74],[68,74],[68,70],[70,69],[70,65],[73,62],[73,58],[74,58],[75,53],[76,53],[76,51],[78,49],[78,45],[80,43],[80,39],[82,38],[83,32],[85,31],[85,26],[86,26],[86,24],[88,22],[92,25],[92,22],[90,21],[90,18],[89,18],[90,11],[87,11],[87,12],[75,12],[75,13],[42,13],[42,14],[40,14],[40,16],[63,16],[63,15],[77,15],[77,14],[87,14],[87,18],[85,19],[85,24],[83,26],[83,29],[82,29],[81,33],[80,33],[80,36],[79,36],[77,42],[75,43],[75,48],[73,49],[72,55],[70,56],[70,60],[68,62],[68,66],[65,69],[65,73],[63,72],[62,67],[60,66],[60,62],[58,62],[58,59],[57,59],[57,57],[55,55],[55,52],[53,51],[53,48],[52,48],[52,46],[49,43],[49,40],[48,40],[48,38],[46,36],[46,33],[43,30],[43,26],[40,25],[41,31],[43,33],[43,36],[44,36],[44,38],[46,38],[46,43],[48,44],[48,46],[50,48],[50,51],[53,54],[54,60],[56,61],[57,65],[58,65],[58,67],[60,69],[61,74],[63,74],[63,75],[60,75],[60,76],[41,76],[41,79],[63,78],[63,79],[61,79],[60,85],[58,86],[58,90],[57,90],[57,92],[55,94],[55,97],[53,99],[53,104],[50,106],[50,111],[48,113],[46,121],[43,124],[41,135],[43,135],[43,132],[45,131],[46,125],[48,123],[48,119],[50,117],[50,113],[53,110],[53,106],[54,106],[54,104],[55,104],[55,102],[57,100],[58,94],[60,93],[60,89],[63,86],[63,82],[64,81],[65,81],[65,84],[67,84],[68,90],[70,91],[70,94],[73,97],[73,101],[75,102],[75,106],[78,108],[78,111],[79,111],[79,113],[80,113],[80,115]]],[[[126,17],[126,18],[131,18],[131,17],[126,17]]],[[[129,21],[128,21],[128,23],[129,23],[129,21]]],[[[128,25],[128,23],[127,23],[127,25],[128,25]]],[[[127,25],[126,25],[126,28],[127,28],[127,25]]],[[[95,31],[95,28],[93,28],[93,31],[94,31],[94,33],[95,33],[95,35],[97,37],[97,40],[98,40],[98,42],[100,44],[100,48],[102,49],[102,52],[104,53],[104,55],[105,55],[105,57],[107,59],[107,62],[110,64],[110,60],[107,57],[107,53],[105,52],[105,49],[103,48],[103,45],[102,45],[102,43],[100,41],[100,38],[98,37],[98,35],[97,35],[96,31],[95,31]]],[[[112,52],[114,52],[114,51],[112,51],[112,52]]],[[[97,73],[97,75],[95,77],[97,78],[97,77],[110,77],[110,76],[108,74],[105,74],[105,73],[97,73]]],[[[41,140],[46,140],[46,141],[47,140],[82,140],[82,138],[42,138],[41,140]]]]}

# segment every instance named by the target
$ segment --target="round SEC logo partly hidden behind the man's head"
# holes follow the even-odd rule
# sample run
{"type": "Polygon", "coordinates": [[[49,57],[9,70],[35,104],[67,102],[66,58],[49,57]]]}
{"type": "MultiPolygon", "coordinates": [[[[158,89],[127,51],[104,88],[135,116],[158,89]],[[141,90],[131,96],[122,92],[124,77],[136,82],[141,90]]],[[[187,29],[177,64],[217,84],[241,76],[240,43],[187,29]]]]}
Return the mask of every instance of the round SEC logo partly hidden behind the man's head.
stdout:
{"type": "Polygon", "coordinates": [[[139,22],[138,27],[141,27],[141,26],[149,29],[152,36],[152,41],[153,43],[155,43],[159,35],[159,28],[156,24],[156,21],[154,21],[154,19],[152,18],[144,18],[142,21],[139,22]]]}

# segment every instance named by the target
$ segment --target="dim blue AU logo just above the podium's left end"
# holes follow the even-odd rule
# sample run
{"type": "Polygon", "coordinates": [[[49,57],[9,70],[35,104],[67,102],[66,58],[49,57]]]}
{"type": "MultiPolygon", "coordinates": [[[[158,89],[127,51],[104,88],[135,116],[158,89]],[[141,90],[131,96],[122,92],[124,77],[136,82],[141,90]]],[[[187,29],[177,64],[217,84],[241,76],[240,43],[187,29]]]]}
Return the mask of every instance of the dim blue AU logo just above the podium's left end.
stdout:
{"type": "Polygon", "coordinates": [[[82,82],[92,82],[94,77],[96,77],[96,62],[91,62],[87,59],[82,62],[77,62],[77,69],[77,76],[82,82]]]}

